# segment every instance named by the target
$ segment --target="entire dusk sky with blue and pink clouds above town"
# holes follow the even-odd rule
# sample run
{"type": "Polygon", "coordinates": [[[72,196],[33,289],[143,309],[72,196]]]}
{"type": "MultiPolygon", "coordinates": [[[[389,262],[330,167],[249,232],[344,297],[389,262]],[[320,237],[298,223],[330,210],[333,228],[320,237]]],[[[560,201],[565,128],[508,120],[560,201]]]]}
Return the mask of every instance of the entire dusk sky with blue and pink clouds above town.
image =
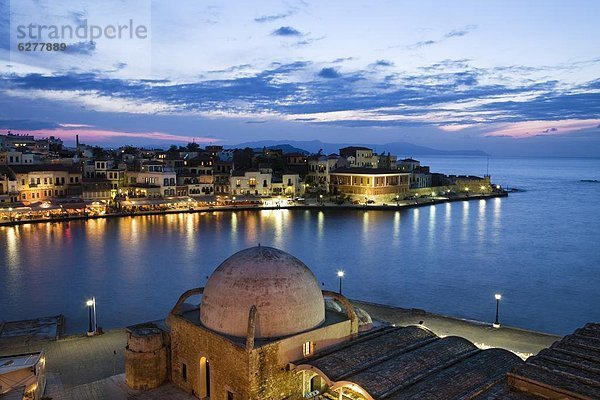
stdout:
{"type": "Polygon", "coordinates": [[[593,0],[0,0],[0,132],[600,156],[598,16],[593,0]],[[36,40],[67,50],[19,51],[36,40]]]}

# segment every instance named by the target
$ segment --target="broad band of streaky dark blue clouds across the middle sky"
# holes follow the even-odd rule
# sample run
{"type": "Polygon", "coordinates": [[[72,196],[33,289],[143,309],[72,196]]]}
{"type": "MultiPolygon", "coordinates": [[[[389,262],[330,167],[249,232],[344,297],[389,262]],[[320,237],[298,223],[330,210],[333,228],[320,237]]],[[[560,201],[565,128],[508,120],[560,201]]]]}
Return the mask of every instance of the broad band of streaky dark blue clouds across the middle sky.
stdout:
{"type": "MultiPolygon", "coordinates": [[[[7,89],[90,91],[137,103],[160,102],[181,111],[294,114],[311,123],[316,123],[312,113],[368,111],[374,116],[328,122],[345,126],[475,124],[481,122],[482,115],[487,122],[593,119],[600,115],[597,80],[571,91],[555,80],[487,84],[482,82],[497,76],[494,68],[477,69],[465,64],[468,60],[444,60],[418,73],[391,73],[383,78],[370,69],[341,74],[328,67],[318,70],[313,78],[298,81],[298,76],[310,76],[314,71],[312,63],[298,61],[272,63],[251,76],[185,84],[164,79],[111,79],[100,73],[3,74],[0,93],[7,89]],[[443,65],[465,68],[451,72],[443,65]],[[288,79],[292,76],[294,79],[288,79]],[[537,97],[514,100],[532,93],[537,97]],[[457,110],[456,104],[463,107],[457,110]],[[424,117],[432,114],[438,117],[428,122],[424,117]],[[386,118],[378,120],[377,116],[386,118]]],[[[235,67],[227,70],[231,69],[235,67]]]]}

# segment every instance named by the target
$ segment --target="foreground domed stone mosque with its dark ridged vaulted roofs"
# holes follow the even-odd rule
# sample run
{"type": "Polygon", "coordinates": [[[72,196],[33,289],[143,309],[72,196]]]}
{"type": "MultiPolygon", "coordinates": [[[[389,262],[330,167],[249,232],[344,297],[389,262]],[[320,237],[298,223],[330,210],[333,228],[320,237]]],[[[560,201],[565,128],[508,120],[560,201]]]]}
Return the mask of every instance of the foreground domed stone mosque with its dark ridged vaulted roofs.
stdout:
{"type": "Polygon", "coordinates": [[[373,327],[281,250],[226,259],[164,321],[128,327],[126,383],[200,399],[483,399],[523,361],[423,326],[373,327]],[[194,301],[195,299],[195,301],[194,301]]]}

